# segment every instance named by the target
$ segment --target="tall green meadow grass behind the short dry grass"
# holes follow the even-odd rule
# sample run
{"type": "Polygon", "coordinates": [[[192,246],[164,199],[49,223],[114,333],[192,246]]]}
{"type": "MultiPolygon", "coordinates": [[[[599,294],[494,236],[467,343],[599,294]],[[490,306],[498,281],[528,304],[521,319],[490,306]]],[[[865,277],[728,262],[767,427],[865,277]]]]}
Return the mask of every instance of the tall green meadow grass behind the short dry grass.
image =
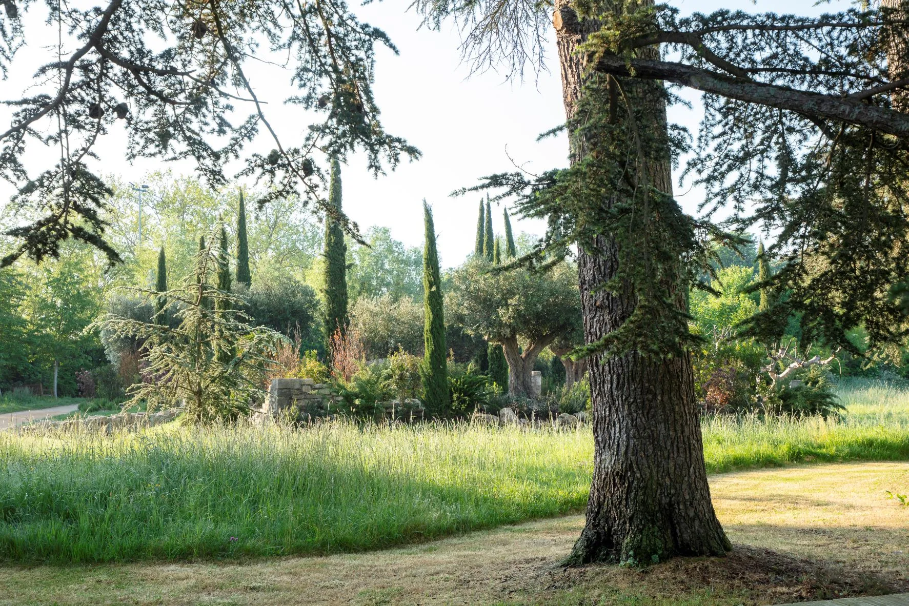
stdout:
{"type": "MultiPolygon", "coordinates": [[[[896,390],[843,422],[708,419],[707,466],[909,460],[906,402],[896,390]],[[888,402],[898,413],[874,409],[888,402]]],[[[550,517],[584,507],[592,442],[452,423],[0,432],[0,560],[365,551],[550,517]]]]}

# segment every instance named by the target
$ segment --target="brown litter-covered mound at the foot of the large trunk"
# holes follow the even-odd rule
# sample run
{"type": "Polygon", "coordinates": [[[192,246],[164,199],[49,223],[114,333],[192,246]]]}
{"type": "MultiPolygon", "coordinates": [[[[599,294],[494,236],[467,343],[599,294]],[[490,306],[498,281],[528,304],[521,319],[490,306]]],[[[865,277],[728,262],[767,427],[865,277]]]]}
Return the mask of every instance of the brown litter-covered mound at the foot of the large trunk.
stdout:
{"type": "MultiPolygon", "coordinates": [[[[534,591],[573,590],[579,598],[589,599],[607,598],[617,591],[639,591],[642,598],[659,601],[713,590],[740,593],[745,603],[754,604],[909,591],[909,582],[904,580],[747,545],[735,545],[724,558],[675,558],[639,570],[597,564],[563,569],[547,562],[536,567],[536,574],[524,576],[525,581],[532,579],[535,587],[516,579],[514,582],[524,585],[521,590],[531,595],[534,591]]],[[[515,590],[521,591],[513,584],[506,591],[515,590]]]]}

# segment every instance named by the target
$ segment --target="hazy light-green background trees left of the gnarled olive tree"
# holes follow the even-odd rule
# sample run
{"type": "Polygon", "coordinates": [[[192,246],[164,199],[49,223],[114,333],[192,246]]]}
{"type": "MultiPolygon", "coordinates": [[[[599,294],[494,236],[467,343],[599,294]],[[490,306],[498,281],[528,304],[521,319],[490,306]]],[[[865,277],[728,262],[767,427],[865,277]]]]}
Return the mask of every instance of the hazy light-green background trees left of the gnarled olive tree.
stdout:
{"type": "MultiPolygon", "coordinates": [[[[121,368],[128,344],[104,343],[101,333],[89,326],[108,312],[147,319],[154,307],[119,287],[154,289],[161,250],[168,281],[179,283],[193,271],[199,238],[214,233],[221,223],[236,256],[238,189],[213,192],[195,179],[169,173],[152,174],[143,183],[149,184],[150,193],[143,201],[141,243],[132,186],[115,182],[110,200],[114,212],[108,216],[108,234],[125,263],[108,267],[102,256],[72,244],[59,259],[41,265],[20,261],[0,270],[0,390],[41,383],[45,393],[51,392],[56,364],[60,395],[78,394],[76,373],[82,370],[97,375],[98,389],[109,384],[111,392],[105,397],[122,394],[137,378],[137,361],[127,360],[129,368],[121,368]]],[[[302,351],[323,356],[323,219],[295,199],[246,208],[245,215],[252,277],[244,292],[246,311],[255,323],[299,335],[302,351]]],[[[399,345],[419,353],[423,253],[395,240],[385,227],[366,231],[365,241],[368,246],[349,239],[346,243],[352,322],[361,327],[370,357],[385,357],[399,345]]],[[[0,242],[0,253],[8,245],[0,242]]],[[[244,287],[234,280],[233,288],[244,287]]],[[[469,357],[479,350],[474,339],[457,327],[451,330],[456,355],[469,357]]]]}

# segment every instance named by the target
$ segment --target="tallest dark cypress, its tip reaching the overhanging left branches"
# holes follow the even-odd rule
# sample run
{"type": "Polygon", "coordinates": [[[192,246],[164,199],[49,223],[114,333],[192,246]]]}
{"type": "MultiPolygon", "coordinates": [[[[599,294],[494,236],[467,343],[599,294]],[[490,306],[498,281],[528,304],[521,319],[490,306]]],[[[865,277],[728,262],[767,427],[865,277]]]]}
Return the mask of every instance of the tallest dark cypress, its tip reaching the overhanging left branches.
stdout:
{"type": "MultiPolygon", "coordinates": [[[[341,210],[341,164],[332,160],[331,192],[328,204],[341,210]]],[[[325,341],[337,331],[347,333],[347,244],[344,230],[325,214],[325,341]]],[[[331,348],[326,347],[326,351],[331,348]]]]}

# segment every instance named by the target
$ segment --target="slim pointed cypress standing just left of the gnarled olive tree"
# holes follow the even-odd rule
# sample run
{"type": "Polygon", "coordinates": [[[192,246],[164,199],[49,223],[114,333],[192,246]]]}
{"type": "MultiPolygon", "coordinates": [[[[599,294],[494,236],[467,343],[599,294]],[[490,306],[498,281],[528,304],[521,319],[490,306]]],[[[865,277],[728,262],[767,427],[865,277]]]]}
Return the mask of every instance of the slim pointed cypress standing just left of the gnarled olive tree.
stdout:
{"type": "Polygon", "coordinates": [[[435,225],[429,204],[423,201],[426,241],[423,249],[423,343],[425,350],[423,392],[426,410],[441,416],[449,408],[448,368],[445,361],[445,311],[435,225]]]}

